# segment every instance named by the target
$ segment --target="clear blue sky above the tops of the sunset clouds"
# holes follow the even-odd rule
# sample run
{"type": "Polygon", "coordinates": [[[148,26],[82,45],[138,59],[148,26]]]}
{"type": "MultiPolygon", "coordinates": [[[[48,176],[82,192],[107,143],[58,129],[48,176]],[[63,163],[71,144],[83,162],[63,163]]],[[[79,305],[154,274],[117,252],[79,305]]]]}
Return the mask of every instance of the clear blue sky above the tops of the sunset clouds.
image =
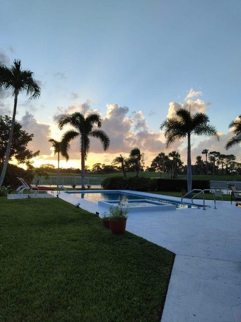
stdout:
{"type": "Polygon", "coordinates": [[[57,107],[90,100],[103,116],[107,104],[142,111],[157,133],[169,103],[193,89],[226,133],[241,112],[240,16],[238,0],[4,0],[0,50],[43,84],[19,118],[28,110],[51,125],[57,107]]]}

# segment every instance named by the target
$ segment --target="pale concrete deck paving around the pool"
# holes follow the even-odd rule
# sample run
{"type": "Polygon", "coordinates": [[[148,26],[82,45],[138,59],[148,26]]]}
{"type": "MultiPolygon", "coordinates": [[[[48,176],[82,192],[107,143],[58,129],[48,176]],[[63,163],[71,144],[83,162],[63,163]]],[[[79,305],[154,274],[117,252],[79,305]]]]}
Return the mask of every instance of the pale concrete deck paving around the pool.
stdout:
{"type": "MultiPolygon", "coordinates": [[[[71,194],[61,192],[59,198],[103,212],[97,204],[71,194]]],[[[162,322],[241,321],[241,208],[228,201],[217,201],[217,209],[213,201],[206,204],[211,208],[129,214],[128,231],[176,254],[162,322]]]]}

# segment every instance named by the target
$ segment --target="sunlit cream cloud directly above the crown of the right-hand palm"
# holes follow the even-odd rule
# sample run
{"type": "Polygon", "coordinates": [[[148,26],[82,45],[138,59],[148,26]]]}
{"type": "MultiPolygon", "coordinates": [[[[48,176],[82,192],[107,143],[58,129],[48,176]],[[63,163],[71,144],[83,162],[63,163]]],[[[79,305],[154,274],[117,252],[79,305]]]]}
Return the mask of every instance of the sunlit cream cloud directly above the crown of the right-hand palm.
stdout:
{"type": "Polygon", "coordinates": [[[185,103],[170,102],[167,117],[171,118],[176,116],[176,112],[180,108],[187,109],[187,110],[191,108],[192,114],[196,112],[206,112],[209,105],[210,103],[205,103],[200,99],[197,99],[196,101],[188,100],[185,103]]]}

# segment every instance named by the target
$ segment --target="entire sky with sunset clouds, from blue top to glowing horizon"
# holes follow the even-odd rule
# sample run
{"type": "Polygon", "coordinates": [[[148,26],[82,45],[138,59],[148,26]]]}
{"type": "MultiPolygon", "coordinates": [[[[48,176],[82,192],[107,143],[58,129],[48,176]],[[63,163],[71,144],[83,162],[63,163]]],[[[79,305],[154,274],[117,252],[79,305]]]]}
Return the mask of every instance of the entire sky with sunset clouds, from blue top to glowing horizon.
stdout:
{"type": "MultiPolygon", "coordinates": [[[[97,111],[110,147],[92,140],[87,164],[105,164],[138,146],[145,164],[167,151],[160,124],[181,106],[205,111],[220,141],[192,137],[192,162],[202,149],[224,150],[228,124],[241,114],[241,2],[238,0],[3,0],[0,61],[21,59],[42,88],[38,101],[19,97],[17,120],[34,133],[35,161],[56,165],[48,142],[66,112],[97,111]]],[[[0,114],[12,115],[10,93],[0,92],[0,114]]],[[[79,142],[62,167],[80,167],[79,142]]]]}

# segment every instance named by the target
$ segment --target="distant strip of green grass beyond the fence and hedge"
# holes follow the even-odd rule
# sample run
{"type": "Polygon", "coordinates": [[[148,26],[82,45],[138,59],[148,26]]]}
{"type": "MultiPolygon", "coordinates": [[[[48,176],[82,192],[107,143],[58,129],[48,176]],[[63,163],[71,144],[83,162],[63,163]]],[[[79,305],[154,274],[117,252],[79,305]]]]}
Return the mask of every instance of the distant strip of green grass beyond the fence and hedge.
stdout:
{"type": "MultiPolygon", "coordinates": [[[[57,173],[55,172],[48,172],[49,176],[56,177],[57,173]]],[[[93,178],[109,178],[109,177],[119,177],[123,176],[122,173],[112,173],[112,174],[107,174],[107,175],[101,175],[101,174],[86,174],[86,177],[93,177],[93,178]]],[[[136,173],[135,172],[128,172],[127,173],[128,177],[135,177],[136,173]]],[[[160,173],[159,172],[140,172],[140,177],[145,177],[145,178],[160,178],[160,173]]],[[[81,174],[79,173],[61,173],[60,170],[60,177],[81,177],[81,174]]],[[[178,178],[180,179],[187,179],[186,175],[179,175],[178,178]]],[[[170,179],[168,178],[167,174],[162,173],[162,179],[170,179]]],[[[192,175],[192,180],[213,180],[213,181],[241,181],[241,176],[238,175],[192,175]]]]}

